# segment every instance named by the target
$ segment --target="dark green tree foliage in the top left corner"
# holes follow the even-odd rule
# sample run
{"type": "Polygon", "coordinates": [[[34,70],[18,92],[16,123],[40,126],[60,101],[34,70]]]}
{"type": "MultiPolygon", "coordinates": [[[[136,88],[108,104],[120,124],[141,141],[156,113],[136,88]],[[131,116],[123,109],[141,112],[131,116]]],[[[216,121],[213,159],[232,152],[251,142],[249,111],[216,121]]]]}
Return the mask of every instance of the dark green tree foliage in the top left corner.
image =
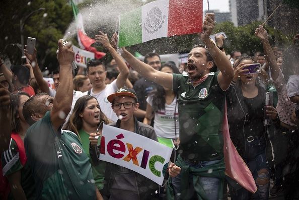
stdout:
{"type": "Polygon", "coordinates": [[[66,0],[2,2],[0,47],[2,52],[5,50],[3,54],[8,54],[12,63],[20,64],[21,51],[10,44],[21,43],[20,20],[24,20],[28,14],[39,8],[45,8],[45,11],[35,12],[24,22],[24,44],[27,37],[36,38],[37,58],[41,68],[53,70],[58,66],[57,41],[63,37],[64,31],[72,21],[71,7],[66,0]]]}

